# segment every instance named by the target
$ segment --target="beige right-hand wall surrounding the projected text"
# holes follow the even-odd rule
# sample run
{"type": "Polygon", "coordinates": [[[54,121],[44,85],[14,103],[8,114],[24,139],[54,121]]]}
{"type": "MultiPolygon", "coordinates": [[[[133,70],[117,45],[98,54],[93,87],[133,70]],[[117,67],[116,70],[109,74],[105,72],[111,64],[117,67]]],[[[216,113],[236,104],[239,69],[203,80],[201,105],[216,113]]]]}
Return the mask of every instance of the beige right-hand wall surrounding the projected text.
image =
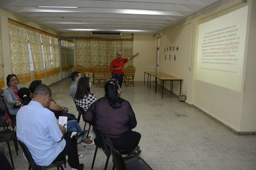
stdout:
{"type": "MultiPolygon", "coordinates": [[[[238,132],[256,132],[256,1],[240,0],[221,4],[216,9],[205,12],[183,25],[161,33],[160,72],[183,78],[182,92],[187,95],[187,103],[197,106],[238,132]],[[243,67],[242,90],[237,92],[195,79],[197,60],[197,39],[200,23],[225,15],[248,5],[247,35],[243,67]],[[179,45],[178,52],[164,52],[164,48],[179,45]],[[173,60],[174,53],[176,61],[173,60]],[[165,54],[167,60],[165,60],[165,54]],[[169,54],[172,58],[169,61],[169,54]],[[191,66],[191,67],[190,67],[191,66]],[[190,71],[191,68],[191,71],[190,71]]],[[[216,75],[218,76],[218,75],[216,75]]],[[[165,86],[169,89],[169,84],[165,86]]],[[[174,85],[174,93],[179,92],[179,84],[174,85]]]]}

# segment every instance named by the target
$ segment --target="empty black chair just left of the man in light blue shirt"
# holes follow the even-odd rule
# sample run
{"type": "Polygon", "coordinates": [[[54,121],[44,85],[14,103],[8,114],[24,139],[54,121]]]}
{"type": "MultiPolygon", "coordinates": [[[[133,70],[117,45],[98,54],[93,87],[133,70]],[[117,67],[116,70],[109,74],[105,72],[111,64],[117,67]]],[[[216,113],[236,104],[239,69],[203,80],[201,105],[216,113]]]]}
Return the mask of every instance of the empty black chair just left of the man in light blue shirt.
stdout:
{"type": "Polygon", "coordinates": [[[16,134],[16,131],[14,129],[3,129],[3,130],[0,130],[0,141],[6,141],[6,143],[8,145],[8,149],[9,149],[9,153],[10,153],[10,158],[11,158],[11,162],[12,162],[12,168],[14,168],[14,164],[13,164],[13,160],[12,160],[12,152],[11,152],[11,148],[10,148],[10,145],[9,145],[9,140],[13,140],[14,141],[15,150],[16,150],[16,153],[18,155],[17,141],[14,138],[15,134],[16,134]]]}

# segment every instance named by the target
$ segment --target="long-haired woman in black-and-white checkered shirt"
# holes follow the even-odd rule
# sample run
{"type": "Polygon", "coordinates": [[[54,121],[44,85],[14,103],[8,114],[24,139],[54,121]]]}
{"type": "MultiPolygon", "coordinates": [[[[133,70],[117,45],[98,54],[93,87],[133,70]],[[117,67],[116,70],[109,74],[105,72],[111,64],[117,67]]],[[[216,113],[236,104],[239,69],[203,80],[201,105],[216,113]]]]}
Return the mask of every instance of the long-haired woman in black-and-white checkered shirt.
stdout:
{"type": "Polygon", "coordinates": [[[75,102],[76,105],[82,107],[84,111],[93,104],[97,98],[90,92],[91,80],[88,77],[81,77],[78,81],[75,102]]]}

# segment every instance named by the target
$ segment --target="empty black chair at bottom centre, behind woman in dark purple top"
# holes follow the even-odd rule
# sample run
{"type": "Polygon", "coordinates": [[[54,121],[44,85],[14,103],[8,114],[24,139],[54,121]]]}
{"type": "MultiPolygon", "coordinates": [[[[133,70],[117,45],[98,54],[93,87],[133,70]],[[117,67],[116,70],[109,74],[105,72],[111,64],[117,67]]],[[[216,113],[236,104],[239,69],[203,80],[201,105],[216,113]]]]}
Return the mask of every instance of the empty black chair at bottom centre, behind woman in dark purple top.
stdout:
{"type": "Polygon", "coordinates": [[[119,153],[113,147],[113,143],[110,138],[106,138],[106,143],[110,147],[113,159],[113,169],[117,170],[152,170],[152,168],[140,157],[133,156],[125,156],[122,157],[121,153],[119,153]]]}

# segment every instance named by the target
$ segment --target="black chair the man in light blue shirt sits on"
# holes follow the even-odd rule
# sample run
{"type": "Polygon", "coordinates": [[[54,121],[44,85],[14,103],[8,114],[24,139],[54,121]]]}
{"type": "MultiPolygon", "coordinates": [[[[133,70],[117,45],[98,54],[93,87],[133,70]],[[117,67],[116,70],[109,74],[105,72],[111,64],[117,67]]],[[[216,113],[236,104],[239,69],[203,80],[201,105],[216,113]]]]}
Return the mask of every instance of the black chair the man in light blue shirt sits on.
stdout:
{"type": "MultiPolygon", "coordinates": [[[[17,137],[15,136],[15,138],[17,139],[17,137]]],[[[18,139],[17,139],[18,140],[18,139]]],[[[61,168],[61,170],[64,170],[64,168],[62,167],[62,163],[64,163],[64,166],[66,168],[66,158],[63,157],[63,159],[61,161],[57,161],[57,162],[54,162],[50,165],[46,165],[46,166],[40,166],[40,165],[37,165],[31,155],[31,153],[29,152],[29,149],[27,148],[26,144],[24,144],[22,141],[18,140],[18,142],[20,143],[20,146],[21,146],[21,149],[23,150],[24,152],[24,155],[26,156],[26,159],[27,161],[29,162],[29,170],[32,168],[32,170],[40,170],[40,169],[43,169],[43,168],[49,168],[49,167],[52,167],[52,166],[57,166],[58,170],[59,168],[61,168]]]]}

